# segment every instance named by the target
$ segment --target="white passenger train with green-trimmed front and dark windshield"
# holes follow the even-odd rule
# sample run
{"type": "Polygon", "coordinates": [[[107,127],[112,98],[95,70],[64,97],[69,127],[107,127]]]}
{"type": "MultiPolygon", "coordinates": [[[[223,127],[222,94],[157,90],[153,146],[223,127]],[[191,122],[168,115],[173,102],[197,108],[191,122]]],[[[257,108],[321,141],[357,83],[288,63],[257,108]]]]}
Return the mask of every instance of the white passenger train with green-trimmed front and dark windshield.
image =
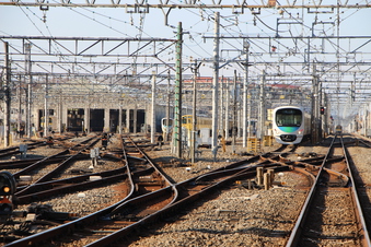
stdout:
{"type": "Polygon", "coordinates": [[[297,106],[273,110],[273,134],[280,144],[298,144],[311,133],[311,116],[297,106]]]}

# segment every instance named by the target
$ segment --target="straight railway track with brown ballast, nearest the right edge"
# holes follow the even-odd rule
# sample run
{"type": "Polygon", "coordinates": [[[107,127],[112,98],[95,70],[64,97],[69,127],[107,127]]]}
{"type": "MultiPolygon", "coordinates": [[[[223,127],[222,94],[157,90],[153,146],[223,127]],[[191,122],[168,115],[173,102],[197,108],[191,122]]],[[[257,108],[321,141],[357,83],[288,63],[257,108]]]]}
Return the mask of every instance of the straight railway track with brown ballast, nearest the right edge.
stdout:
{"type": "Polygon", "coordinates": [[[358,193],[343,137],[336,136],[287,246],[370,246],[358,193]],[[339,153],[338,150],[344,158],[328,162],[334,153],[339,153]]]}

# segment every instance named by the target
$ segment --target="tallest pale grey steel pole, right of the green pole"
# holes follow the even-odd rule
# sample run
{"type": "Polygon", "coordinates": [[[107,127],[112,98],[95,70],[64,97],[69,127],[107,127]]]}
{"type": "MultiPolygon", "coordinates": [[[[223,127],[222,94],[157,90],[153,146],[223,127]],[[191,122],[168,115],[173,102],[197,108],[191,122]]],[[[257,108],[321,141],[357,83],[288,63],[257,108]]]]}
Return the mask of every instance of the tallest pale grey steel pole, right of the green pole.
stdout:
{"type": "Polygon", "coordinates": [[[218,153],[218,87],[219,87],[219,12],[215,15],[213,78],[212,78],[212,153],[218,153]]]}

